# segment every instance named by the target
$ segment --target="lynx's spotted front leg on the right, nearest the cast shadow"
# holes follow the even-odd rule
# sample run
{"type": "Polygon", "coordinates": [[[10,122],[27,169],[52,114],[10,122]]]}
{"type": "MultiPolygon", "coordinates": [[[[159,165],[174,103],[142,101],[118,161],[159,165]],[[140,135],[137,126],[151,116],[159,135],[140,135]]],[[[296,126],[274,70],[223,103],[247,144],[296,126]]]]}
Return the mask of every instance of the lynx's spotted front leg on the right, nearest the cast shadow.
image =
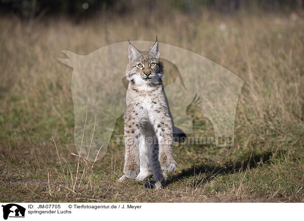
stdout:
{"type": "MultiPolygon", "coordinates": [[[[157,110],[159,112],[159,110],[157,110]]],[[[159,143],[159,160],[162,169],[175,171],[176,162],[173,158],[173,128],[168,114],[157,113],[153,116],[154,130],[159,143]]]]}

